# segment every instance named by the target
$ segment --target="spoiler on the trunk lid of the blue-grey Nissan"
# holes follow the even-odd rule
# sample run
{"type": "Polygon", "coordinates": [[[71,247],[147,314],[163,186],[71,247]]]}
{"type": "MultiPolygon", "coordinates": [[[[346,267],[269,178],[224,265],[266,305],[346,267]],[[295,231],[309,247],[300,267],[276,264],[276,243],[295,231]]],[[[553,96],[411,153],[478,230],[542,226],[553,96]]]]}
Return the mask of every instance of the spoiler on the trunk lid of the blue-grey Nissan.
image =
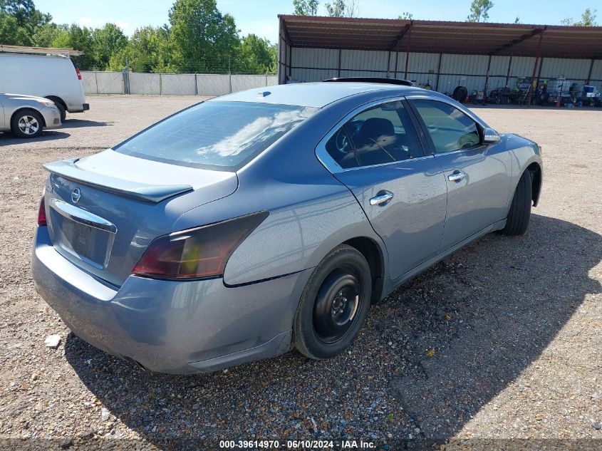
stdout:
{"type": "Polygon", "coordinates": [[[76,166],[79,158],[61,160],[42,165],[51,174],[58,175],[81,185],[97,188],[101,191],[131,197],[145,202],[158,203],[169,197],[192,191],[190,185],[148,185],[146,183],[131,182],[130,180],[116,179],[106,175],[97,174],[80,169],[76,166]]]}

